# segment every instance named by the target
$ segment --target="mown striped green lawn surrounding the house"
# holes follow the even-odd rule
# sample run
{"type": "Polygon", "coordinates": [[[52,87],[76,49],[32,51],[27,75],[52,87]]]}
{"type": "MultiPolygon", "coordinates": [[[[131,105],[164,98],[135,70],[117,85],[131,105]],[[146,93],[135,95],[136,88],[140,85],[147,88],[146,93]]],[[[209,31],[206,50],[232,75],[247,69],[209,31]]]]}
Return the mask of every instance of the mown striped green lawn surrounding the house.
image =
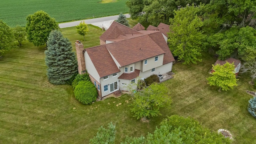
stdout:
{"type": "MultiPolygon", "coordinates": [[[[102,30],[89,25],[84,46],[99,44],[102,30]]],[[[76,28],[64,28],[62,33],[74,44],[83,40],[76,28]]],[[[73,45],[74,46],[74,45],[73,45]]],[[[125,136],[146,135],[153,132],[163,118],[172,114],[192,116],[214,131],[230,130],[234,144],[256,143],[256,119],[246,110],[254,90],[250,78],[240,75],[234,90],[218,92],[208,86],[206,78],[214,58],[204,56],[197,65],[174,64],[174,78],[164,82],[171,92],[171,109],[161,110],[162,116],[142,123],[132,117],[130,96],[108,98],[91,105],[77,102],[68,85],[54,86],[46,77],[44,47],[24,42],[21,48],[8,52],[0,59],[0,143],[88,143],[97,128],[116,124],[116,142],[125,136]],[[122,103],[120,106],[116,104],[122,103]]]]}

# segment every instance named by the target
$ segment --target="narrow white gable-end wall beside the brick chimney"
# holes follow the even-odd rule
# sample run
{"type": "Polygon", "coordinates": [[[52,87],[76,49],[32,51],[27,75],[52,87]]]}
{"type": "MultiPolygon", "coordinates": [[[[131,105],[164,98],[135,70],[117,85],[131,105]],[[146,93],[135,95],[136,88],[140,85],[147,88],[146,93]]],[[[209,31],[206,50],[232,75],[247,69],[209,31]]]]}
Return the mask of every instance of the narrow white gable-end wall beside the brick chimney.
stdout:
{"type": "Polygon", "coordinates": [[[85,66],[87,72],[97,81],[100,82],[100,75],[98,74],[94,64],[92,63],[92,60],[90,59],[90,56],[85,51],[84,52],[84,60],[85,60],[85,66]]]}

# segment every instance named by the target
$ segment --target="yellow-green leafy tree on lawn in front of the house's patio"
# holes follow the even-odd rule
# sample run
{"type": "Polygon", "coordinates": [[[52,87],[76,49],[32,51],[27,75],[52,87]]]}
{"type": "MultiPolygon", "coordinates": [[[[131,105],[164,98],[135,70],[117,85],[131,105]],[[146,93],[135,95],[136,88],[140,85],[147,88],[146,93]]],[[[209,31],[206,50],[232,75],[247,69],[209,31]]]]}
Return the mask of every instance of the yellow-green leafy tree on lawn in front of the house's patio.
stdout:
{"type": "Polygon", "coordinates": [[[164,85],[151,84],[143,90],[134,93],[131,112],[134,117],[143,118],[161,115],[159,109],[170,105],[172,102],[168,90],[164,85]]]}

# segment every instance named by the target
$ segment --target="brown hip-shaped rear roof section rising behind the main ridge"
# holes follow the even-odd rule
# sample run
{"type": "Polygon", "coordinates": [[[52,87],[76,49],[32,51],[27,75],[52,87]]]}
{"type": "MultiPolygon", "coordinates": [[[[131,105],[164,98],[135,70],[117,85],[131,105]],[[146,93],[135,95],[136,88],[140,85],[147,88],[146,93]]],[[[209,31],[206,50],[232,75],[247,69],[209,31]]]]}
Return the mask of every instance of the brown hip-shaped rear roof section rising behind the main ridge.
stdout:
{"type": "Polygon", "coordinates": [[[111,26],[104,32],[100,39],[105,40],[112,40],[118,38],[120,35],[125,36],[126,34],[140,34],[136,30],[133,30],[132,28],[129,28],[127,26],[124,26],[122,24],[119,24],[118,22],[113,22],[111,26]]]}

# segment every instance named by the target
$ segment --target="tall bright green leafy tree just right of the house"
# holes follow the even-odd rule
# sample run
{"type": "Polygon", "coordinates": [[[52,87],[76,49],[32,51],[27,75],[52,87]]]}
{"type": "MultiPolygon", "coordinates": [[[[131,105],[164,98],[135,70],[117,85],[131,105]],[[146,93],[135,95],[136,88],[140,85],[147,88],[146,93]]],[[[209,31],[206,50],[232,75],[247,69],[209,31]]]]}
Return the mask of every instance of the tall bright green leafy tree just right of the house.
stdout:
{"type": "Polygon", "coordinates": [[[174,18],[170,18],[169,47],[184,64],[202,61],[205,36],[200,30],[203,22],[196,14],[198,11],[199,7],[187,6],[175,11],[174,18]]]}

